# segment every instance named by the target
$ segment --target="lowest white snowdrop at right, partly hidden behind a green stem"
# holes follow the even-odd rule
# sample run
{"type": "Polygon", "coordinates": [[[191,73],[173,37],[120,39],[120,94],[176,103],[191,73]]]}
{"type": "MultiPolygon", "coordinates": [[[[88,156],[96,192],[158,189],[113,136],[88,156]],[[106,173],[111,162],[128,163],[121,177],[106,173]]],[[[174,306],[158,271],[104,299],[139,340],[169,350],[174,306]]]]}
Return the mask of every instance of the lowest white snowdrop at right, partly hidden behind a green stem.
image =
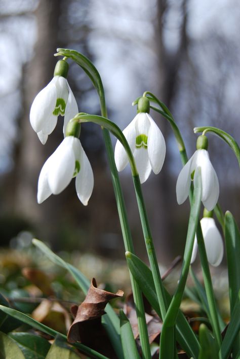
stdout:
{"type": "MultiPolygon", "coordinates": [[[[204,243],[209,263],[217,267],[223,258],[223,241],[213,218],[204,217],[200,221],[204,243]]],[[[197,239],[195,236],[191,263],[194,262],[197,252],[197,239]]]]}

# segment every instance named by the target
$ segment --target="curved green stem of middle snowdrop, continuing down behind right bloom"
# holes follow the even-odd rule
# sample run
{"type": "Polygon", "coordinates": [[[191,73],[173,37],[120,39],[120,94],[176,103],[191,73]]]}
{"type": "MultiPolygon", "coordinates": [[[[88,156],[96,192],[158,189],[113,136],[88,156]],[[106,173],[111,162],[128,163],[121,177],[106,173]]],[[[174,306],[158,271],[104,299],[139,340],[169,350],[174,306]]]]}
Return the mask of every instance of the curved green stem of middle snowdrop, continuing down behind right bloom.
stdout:
{"type": "MultiPolygon", "coordinates": [[[[170,125],[173,129],[176,141],[178,143],[178,148],[179,148],[179,152],[180,152],[180,156],[181,156],[182,165],[184,166],[188,161],[186,150],[185,150],[185,144],[182,139],[179,128],[174,121],[172,114],[167,109],[167,106],[164,105],[163,102],[159,101],[156,98],[156,96],[154,96],[152,93],[150,93],[148,91],[146,92],[146,94],[148,94],[150,96],[149,99],[150,100],[153,99],[153,101],[156,102],[161,107],[162,110],[150,105],[151,109],[160,113],[163,117],[165,117],[170,122],[170,125]],[[167,109],[167,111],[166,111],[166,109],[167,109]]],[[[193,195],[193,189],[191,187],[190,193],[189,193],[190,205],[192,204],[192,195],[193,195]]],[[[220,208],[220,207],[218,207],[218,208],[220,208]]],[[[210,309],[210,315],[211,315],[210,320],[212,323],[214,336],[216,338],[218,346],[220,347],[221,341],[222,341],[221,340],[221,332],[220,332],[219,320],[218,320],[218,316],[217,316],[217,309],[216,309],[216,302],[215,302],[215,297],[214,297],[211,273],[209,270],[208,258],[207,258],[207,254],[206,254],[202,228],[201,228],[201,224],[200,224],[199,220],[198,220],[197,229],[196,229],[196,236],[197,236],[197,243],[198,243],[199,255],[200,255],[200,259],[201,259],[202,270],[203,270],[206,295],[207,295],[209,309],[210,309]]]]}

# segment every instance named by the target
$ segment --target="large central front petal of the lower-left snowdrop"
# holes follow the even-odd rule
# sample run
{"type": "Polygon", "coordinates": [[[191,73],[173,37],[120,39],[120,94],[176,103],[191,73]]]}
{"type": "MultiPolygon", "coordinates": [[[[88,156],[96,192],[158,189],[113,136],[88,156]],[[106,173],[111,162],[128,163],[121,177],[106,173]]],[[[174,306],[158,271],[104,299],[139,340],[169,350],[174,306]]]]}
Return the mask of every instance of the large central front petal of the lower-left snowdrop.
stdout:
{"type": "Polygon", "coordinates": [[[52,166],[48,173],[49,187],[53,194],[59,194],[70,183],[75,169],[73,136],[67,136],[52,155],[52,166]]]}

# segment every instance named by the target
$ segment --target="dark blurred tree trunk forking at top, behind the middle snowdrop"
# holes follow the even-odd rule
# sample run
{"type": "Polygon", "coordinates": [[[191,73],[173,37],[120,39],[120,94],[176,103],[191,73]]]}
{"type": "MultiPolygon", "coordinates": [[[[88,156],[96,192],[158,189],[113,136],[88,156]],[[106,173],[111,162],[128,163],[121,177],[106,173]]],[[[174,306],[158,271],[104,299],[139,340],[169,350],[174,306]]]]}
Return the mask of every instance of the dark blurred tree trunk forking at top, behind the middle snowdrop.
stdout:
{"type": "MultiPolygon", "coordinates": [[[[187,0],[182,0],[181,2],[181,26],[179,29],[180,41],[178,48],[170,53],[164,44],[164,26],[166,25],[166,18],[168,12],[171,9],[171,2],[168,0],[157,0],[157,16],[155,22],[155,46],[156,52],[158,54],[158,76],[157,78],[159,83],[158,93],[156,94],[161,101],[163,101],[171,111],[172,101],[174,99],[175,91],[177,89],[177,75],[182,63],[182,60],[185,57],[187,49],[187,34],[186,34],[186,24],[187,24],[187,0]]],[[[168,26],[168,24],[167,24],[168,26]]],[[[154,114],[155,116],[155,114],[154,114]]],[[[175,196],[175,182],[172,181],[171,171],[169,163],[171,162],[170,151],[168,151],[169,146],[169,137],[171,135],[171,128],[167,120],[161,118],[161,130],[164,133],[167,151],[166,159],[163,166],[163,169],[157,179],[155,180],[157,189],[157,200],[160,203],[160,208],[155,213],[152,213],[154,217],[157,218],[154,220],[154,238],[156,247],[158,248],[159,259],[163,259],[166,262],[166,253],[173,254],[173,238],[176,237],[176,233],[173,226],[173,216],[170,213],[174,213],[173,206],[176,202],[175,196]],[[158,235],[156,233],[158,229],[158,235]]],[[[176,146],[176,153],[177,153],[176,146]]],[[[153,199],[154,196],[152,195],[153,199]]]]}

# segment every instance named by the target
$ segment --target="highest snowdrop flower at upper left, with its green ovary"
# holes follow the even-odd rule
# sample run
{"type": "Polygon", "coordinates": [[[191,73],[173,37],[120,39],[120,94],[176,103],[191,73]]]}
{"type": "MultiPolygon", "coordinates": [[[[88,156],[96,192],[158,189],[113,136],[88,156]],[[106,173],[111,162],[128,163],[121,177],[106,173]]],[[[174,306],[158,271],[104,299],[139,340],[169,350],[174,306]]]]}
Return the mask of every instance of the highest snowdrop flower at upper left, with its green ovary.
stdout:
{"type": "Polygon", "coordinates": [[[36,95],[31,105],[30,123],[43,145],[56,127],[58,115],[64,116],[65,133],[67,123],[78,113],[75,97],[66,79],[67,72],[68,63],[58,61],[54,78],[36,95]]]}

